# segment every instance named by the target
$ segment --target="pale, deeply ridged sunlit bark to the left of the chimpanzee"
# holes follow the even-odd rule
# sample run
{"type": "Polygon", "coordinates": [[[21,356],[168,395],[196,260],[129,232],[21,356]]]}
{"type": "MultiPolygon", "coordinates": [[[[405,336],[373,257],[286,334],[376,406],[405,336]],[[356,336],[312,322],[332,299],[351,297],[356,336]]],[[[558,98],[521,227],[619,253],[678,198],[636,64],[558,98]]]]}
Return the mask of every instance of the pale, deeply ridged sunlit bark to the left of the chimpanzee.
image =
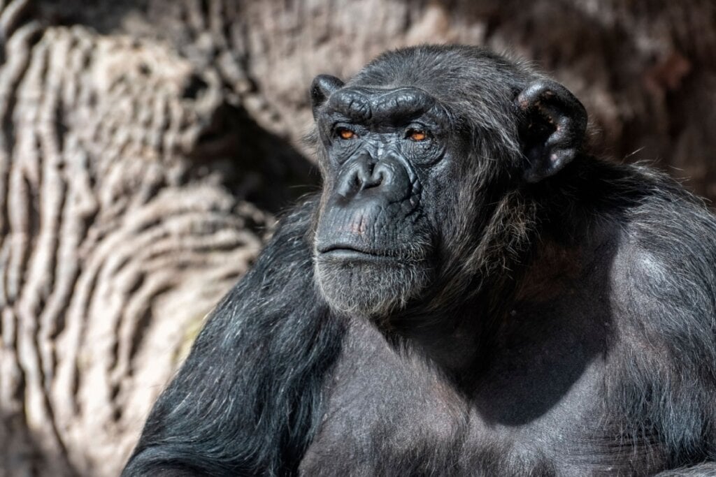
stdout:
{"type": "Polygon", "coordinates": [[[269,217],[193,159],[222,140],[216,74],[23,6],[0,14],[0,473],[116,475],[269,217]]]}

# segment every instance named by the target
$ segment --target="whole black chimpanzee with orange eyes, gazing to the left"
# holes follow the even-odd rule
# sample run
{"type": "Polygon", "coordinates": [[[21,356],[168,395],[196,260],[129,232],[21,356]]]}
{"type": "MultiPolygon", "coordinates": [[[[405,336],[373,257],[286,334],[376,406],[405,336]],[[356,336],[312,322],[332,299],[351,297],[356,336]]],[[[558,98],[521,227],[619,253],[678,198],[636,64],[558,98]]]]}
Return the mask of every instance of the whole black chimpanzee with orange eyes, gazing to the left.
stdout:
{"type": "Polygon", "coordinates": [[[571,92],[478,47],[310,94],[323,190],[213,311],[125,475],[716,473],[699,200],[595,157],[571,92]]]}

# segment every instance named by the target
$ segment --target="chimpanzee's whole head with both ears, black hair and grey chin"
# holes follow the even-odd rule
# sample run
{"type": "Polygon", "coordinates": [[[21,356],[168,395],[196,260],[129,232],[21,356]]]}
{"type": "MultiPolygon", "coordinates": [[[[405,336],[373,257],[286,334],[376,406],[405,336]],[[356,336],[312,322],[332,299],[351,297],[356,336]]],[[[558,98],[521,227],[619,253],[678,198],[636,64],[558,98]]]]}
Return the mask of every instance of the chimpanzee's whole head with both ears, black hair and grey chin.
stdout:
{"type": "Polygon", "coordinates": [[[316,280],[332,308],[373,318],[468,292],[499,260],[491,241],[520,235],[504,215],[579,154],[586,127],[560,84],[470,46],[392,51],[346,84],[320,75],[311,101],[316,280]]]}

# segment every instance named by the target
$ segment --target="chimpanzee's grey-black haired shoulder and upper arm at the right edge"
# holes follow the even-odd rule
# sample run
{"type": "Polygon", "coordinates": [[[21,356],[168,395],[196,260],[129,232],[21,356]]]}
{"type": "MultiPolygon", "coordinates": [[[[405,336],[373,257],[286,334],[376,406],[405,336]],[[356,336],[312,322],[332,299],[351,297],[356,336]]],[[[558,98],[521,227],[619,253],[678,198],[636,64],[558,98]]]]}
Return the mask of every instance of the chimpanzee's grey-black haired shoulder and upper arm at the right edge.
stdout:
{"type": "Polygon", "coordinates": [[[672,466],[707,461],[716,440],[709,424],[716,391],[716,217],[664,174],[635,169],[647,193],[628,210],[614,260],[611,302],[622,320],[610,392],[625,428],[659,436],[672,466]]]}

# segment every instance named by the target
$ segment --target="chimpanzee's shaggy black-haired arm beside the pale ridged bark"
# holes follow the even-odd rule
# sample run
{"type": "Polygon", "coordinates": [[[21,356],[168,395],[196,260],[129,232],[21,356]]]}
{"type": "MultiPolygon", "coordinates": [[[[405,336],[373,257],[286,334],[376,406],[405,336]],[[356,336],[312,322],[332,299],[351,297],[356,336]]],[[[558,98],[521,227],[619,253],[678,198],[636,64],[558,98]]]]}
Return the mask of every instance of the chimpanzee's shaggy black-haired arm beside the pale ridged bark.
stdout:
{"type": "Polygon", "coordinates": [[[294,473],[343,327],[314,291],[314,201],[281,221],[151,411],[123,476],[294,473]]]}

